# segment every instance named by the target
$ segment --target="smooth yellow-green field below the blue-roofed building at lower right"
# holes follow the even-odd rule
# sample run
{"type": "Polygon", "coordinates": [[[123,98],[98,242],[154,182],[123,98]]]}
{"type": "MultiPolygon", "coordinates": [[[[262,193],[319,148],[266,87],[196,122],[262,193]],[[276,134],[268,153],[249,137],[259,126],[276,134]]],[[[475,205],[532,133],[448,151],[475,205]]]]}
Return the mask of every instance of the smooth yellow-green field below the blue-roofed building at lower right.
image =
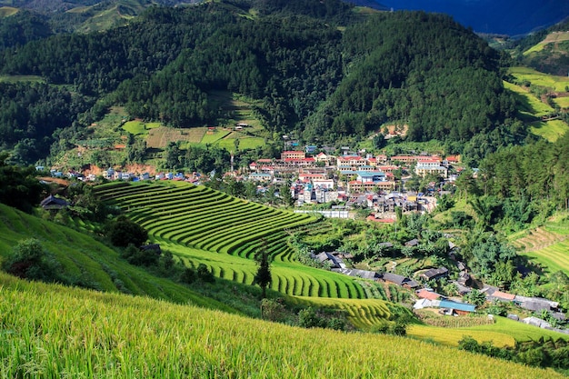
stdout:
{"type": "Polygon", "coordinates": [[[494,324],[484,324],[461,328],[441,328],[431,325],[412,324],[407,334],[420,339],[432,340],[439,344],[457,346],[464,335],[472,336],[476,341],[492,341],[496,346],[514,346],[515,342],[538,341],[540,338],[569,339],[567,334],[535,327],[494,316],[494,324]]]}

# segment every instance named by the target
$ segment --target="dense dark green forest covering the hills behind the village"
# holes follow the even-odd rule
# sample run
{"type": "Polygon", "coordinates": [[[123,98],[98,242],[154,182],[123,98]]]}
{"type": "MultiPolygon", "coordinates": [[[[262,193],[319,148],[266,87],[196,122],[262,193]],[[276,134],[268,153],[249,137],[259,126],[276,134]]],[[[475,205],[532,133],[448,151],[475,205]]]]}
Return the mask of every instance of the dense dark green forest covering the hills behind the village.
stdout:
{"type": "MultiPolygon", "coordinates": [[[[49,88],[42,117],[15,112],[26,103],[8,96],[0,110],[3,147],[34,146],[35,155],[19,154],[22,163],[44,157],[56,129],[81,135],[111,105],[174,127],[219,125],[226,115],[212,90],[261,101],[255,112],[269,132],[305,141],[334,144],[409,125],[407,140],[438,139],[477,163],[527,135],[502,85],[505,55],[445,15],[362,15],[336,0],[233,0],[153,6],[92,34],[34,30],[0,52],[0,75],[35,75],[49,88]]],[[[5,84],[5,92],[27,99],[40,86],[5,84]]]]}

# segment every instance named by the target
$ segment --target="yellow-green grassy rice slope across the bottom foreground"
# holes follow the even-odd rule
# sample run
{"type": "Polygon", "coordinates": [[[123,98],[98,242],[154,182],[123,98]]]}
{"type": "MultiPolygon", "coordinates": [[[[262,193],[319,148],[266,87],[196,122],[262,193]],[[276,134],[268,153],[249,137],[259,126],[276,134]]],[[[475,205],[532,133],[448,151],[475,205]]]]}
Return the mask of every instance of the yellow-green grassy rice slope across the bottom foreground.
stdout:
{"type": "Polygon", "coordinates": [[[403,337],[271,324],[0,274],[3,377],[561,378],[403,337]]]}

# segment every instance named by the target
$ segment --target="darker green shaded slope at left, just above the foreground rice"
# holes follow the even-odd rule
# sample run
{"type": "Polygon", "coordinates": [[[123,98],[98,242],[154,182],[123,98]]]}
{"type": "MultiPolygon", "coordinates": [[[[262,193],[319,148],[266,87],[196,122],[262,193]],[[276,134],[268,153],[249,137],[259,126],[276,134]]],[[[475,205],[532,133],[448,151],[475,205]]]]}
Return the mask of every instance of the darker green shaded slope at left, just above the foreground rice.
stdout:
{"type": "Polygon", "coordinates": [[[184,285],[127,264],[114,249],[90,235],[0,204],[0,260],[27,238],[38,239],[46,251],[54,254],[72,283],[105,292],[147,295],[175,303],[191,302],[232,311],[224,304],[195,294],[184,285]]]}

